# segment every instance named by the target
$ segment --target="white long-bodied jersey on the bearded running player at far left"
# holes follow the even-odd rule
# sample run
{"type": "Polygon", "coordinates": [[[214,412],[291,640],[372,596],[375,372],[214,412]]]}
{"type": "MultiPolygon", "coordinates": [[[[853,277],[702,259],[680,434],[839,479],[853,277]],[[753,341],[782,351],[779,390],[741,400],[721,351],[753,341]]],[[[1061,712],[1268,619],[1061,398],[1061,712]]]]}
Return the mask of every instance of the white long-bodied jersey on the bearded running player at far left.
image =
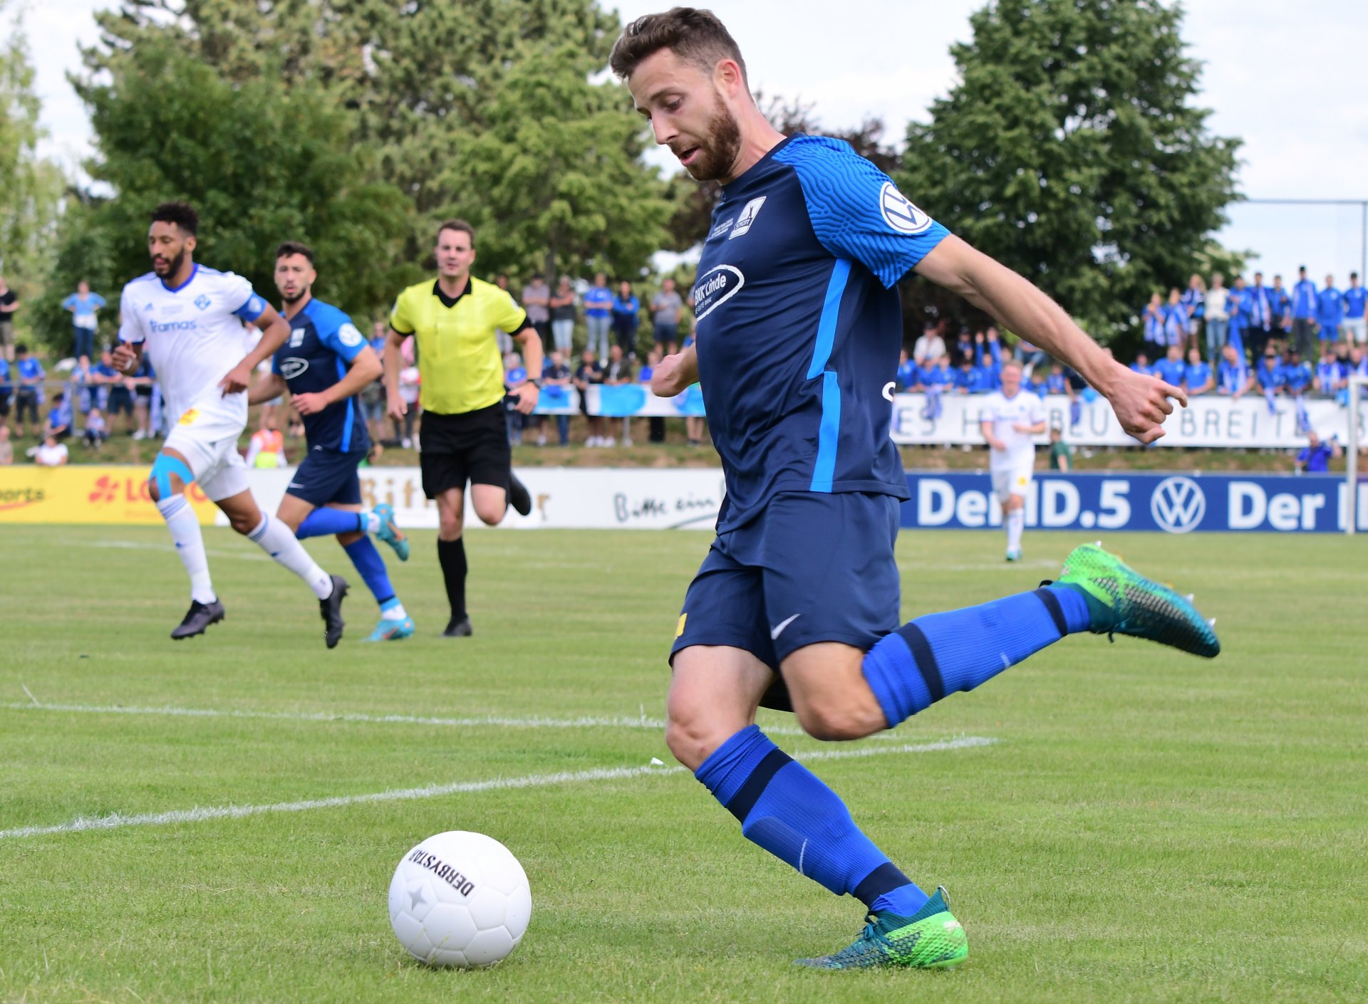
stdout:
{"type": "Polygon", "coordinates": [[[167,286],[155,272],[123,287],[119,341],[142,343],[172,421],[192,408],[248,421],[248,395],[223,397],[219,380],[246,356],[242,321],[256,320],[265,301],[233,272],[196,264],[190,278],[167,286]]]}

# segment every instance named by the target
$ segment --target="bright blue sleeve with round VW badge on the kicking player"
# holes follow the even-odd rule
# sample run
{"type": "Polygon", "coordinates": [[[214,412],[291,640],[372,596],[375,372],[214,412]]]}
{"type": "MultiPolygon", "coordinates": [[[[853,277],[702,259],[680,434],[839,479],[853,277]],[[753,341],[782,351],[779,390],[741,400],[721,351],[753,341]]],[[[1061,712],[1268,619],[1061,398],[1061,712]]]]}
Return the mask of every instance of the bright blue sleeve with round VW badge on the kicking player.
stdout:
{"type": "Polygon", "coordinates": [[[817,239],[892,289],[949,231],[918,209],[850,144],[798,135],[776,155],[798,174],[817,239]]]}

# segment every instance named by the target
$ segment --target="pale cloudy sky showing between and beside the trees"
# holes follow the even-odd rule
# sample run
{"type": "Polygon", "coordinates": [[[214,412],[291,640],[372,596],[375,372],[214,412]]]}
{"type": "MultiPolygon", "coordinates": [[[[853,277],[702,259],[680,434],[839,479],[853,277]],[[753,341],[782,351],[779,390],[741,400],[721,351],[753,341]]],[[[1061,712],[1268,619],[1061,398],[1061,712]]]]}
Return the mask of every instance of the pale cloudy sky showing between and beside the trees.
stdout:
{"type": "MultiPolygon", "coordinates": [[[[15,1],[0,15],[8,33],[15,1]]],[[[78,45],[97,40],[93,12],[111,0],[18,0],[37,64],[41,152],[77,170],[90,153],[85,108],[67,83],[78,45]]],[[[0,0],[3,5],[3,0],[0,0]]],[[[605,5],[613,5],[605,0],[605,5]]],[[[668,4],[628,0],[624,21],[668,4]]],[[[984,0],[713,0],[746,55],[752,86],[814,105],[829,129],[884,120],[900,140],[910,120],[955,83],[949,47],[970,37],[984,0]],[[834,11],[834,12],[833,12],[834,11]]],[[[1183,38],[1205,64],[1209,126],[1245,141],[1238,186],[1250,200],[1368,200],[1368,21],[1364,0],[1189,0],[1183,38]],[[1290,14],[1290,11],[1295,14],[1290,14]]],[[[654,163],[670,166],[665,156],[654,163]]],[[[907,193],[915,198],[917,193],[907,193]]],[[[925,207],[934,215],[934,207],[925,207]]],[[[1319,283],[1361,269],[1361,207],[1241,204],[1218,235],[1259,256],[1254,267],[1319,283]]]]}

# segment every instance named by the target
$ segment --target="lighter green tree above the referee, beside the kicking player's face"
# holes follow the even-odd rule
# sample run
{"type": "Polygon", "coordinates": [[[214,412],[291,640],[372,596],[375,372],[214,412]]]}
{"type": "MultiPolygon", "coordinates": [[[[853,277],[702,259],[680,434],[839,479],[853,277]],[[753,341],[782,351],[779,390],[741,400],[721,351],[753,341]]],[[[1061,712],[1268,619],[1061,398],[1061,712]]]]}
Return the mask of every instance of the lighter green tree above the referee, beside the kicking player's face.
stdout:
{"type": "Polygon", "coordinates": [[[636,276],[665,243],[669,205],[642,163],[642,123],[621,85],[590,81],[595,68],[573,47],[524,47],[482,109],[486,127],[449,152],[445,215],[476,226],[486,274],[636,276]]]}

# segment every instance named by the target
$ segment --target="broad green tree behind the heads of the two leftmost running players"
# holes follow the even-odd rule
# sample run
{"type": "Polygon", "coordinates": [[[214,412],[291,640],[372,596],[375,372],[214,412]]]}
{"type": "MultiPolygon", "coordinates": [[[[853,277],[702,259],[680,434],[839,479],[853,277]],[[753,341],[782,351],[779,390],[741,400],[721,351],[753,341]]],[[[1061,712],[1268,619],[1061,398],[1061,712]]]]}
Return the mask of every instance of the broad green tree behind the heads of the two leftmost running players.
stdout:
{"type": "Polygon", "coordinates": [[[313,246],[319,294],[346,311],[389,302],[408,278],[393,263],[409,202],[369,181],[373,153],[349,149],[352,122],[323,89],[269,77],[235,85],[155,38],[108,68],[107,82],[79,93],[96,134],[88,170],[115,194],[92,200],[64,228],[57,278],[66,286],[92,272],[92,282],[116,290],[146,272],[148,215],[171,198],[200,212],[197,257],[268,295],[272,250],[283,239],[313,246]]]}

